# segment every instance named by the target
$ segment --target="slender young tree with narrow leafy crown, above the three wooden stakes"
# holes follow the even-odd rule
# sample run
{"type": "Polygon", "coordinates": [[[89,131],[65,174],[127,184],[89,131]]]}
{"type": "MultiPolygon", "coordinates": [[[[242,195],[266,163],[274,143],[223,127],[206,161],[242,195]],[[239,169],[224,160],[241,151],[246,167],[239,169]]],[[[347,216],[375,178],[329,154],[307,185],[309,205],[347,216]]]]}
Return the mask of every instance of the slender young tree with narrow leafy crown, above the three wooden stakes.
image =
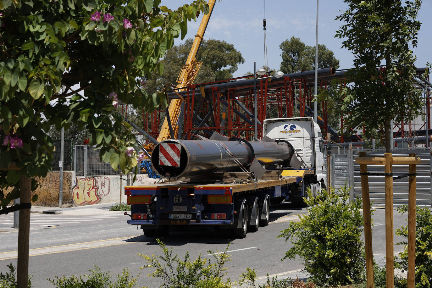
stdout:
{"type": "Polygon", "coordinates": [[[391,120],[410,121],[422,108],[421,92],[414,87],[411,51],[417,45],[421,0],[344,0],[348,8],[336,19],[344,24],[335,37],[352,51],[354,68],[347,73],[341,93],[334,97],[351,127],[380,128],[390,152],[391,120]],[[380,66],[384,64],[384,66],[380,66]]]}

